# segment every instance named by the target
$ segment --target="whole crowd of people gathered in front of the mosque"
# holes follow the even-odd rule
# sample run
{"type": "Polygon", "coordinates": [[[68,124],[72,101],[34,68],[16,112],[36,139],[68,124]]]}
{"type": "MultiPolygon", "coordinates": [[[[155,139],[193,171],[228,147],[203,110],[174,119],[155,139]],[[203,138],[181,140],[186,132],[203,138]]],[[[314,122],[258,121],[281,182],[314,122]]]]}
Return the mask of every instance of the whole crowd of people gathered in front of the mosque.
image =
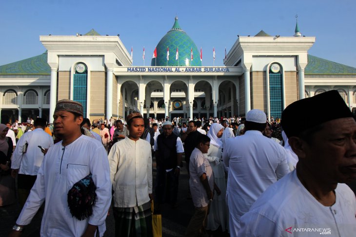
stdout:
{"type": "Polygon", "coordinates": [[[103,236],[110,205],[115,236],[152,236],[151,211],[178,207],[183,164],[195,207],[185,236],[356,233],[355,190],[343,184],[356,180],[356,122],[337,91],[296,101],[270,121],[252,109],[243,118],[132,113],[90,122],[80,103],[61,100],[53,127],[28,122],[0,125],[0,205],[16,200],[17,177],[23,207],[10,236],[44,202],[41,236],[103,236]],[[302,126],[300,114],[308,116],[302,126]]]}

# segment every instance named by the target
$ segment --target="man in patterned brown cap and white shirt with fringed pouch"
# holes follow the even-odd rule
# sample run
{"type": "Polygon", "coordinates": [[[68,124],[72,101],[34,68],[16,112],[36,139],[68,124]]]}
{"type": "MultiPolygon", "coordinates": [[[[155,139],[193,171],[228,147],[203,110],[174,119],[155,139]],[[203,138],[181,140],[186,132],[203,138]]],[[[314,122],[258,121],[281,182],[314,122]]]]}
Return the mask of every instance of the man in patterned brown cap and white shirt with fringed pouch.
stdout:
{"type": "Polygon", "coordinates": [[[23,226],[31,222],[44,201],[41,237],[93,237],[97,229],[103,236],[111,203],[106,151],[98,141],[81,134],[83,107],[79,102],[58,101],[53,118],[56,137],[62,141],[48,149],[36,182],[9,236],[20,236],[23,226]],[[89,174],[97,187],[97,198],[92,205],[92,215],[88,217],[82,212],[84,219],[79,220],[69,210],[68,191],[89,174]]]}

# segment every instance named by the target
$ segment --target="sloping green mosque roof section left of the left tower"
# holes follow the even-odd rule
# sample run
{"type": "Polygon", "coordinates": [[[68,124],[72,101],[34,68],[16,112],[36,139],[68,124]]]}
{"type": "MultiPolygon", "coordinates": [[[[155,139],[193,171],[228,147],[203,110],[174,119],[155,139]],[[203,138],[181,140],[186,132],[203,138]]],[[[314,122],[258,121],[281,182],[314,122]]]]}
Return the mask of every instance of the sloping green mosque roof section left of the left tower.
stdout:
{"type": "Polygon", "coordinates": [[[0,75],[50,75],[47,51],[41,55],[0,66],[0,75]]]}

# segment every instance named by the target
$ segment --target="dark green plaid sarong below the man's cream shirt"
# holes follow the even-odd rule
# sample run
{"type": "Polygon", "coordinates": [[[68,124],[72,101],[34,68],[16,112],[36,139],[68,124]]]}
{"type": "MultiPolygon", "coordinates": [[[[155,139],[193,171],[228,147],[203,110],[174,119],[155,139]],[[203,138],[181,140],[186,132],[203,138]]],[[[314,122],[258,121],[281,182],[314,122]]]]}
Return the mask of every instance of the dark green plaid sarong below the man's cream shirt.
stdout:
{"type": "Polygon", "coordinates": [[[116,237],[152,237],[151,203],[113,207],[116,237]]]}

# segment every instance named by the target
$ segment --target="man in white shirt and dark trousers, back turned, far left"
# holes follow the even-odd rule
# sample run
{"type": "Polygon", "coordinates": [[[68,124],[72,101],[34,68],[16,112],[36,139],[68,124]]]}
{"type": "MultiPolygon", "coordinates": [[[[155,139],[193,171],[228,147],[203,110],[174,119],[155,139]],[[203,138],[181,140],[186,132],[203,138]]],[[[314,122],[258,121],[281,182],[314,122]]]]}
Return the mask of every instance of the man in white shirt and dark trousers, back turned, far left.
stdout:
{"type": "Polygon", "coordinates": [[[34,125],[35,130],[33,132],[26,132],[21,136],[12,156],[11,175],[13,178],[18,176],[18,193],[21,207],[23,207],[30,194],[43,161],[44,154],[39,146],[48,150],[53,145],[53,138],[44,131],[46,120],[37,118],[34,125]],[[23,152],[24,146],[27,146],[26,152],[23,152]]]}

